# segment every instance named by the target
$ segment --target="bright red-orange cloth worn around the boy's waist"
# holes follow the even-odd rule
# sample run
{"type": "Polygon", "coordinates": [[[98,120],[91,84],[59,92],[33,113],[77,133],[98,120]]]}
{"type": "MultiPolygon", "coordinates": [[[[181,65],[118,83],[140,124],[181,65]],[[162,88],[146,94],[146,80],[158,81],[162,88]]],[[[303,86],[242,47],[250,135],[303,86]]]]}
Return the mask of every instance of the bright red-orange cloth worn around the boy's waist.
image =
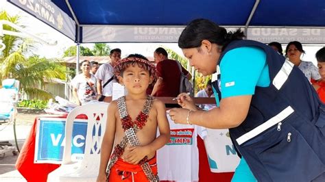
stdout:
{"type": "MultiPolygon", "coordinates": [[[[149,160],[149,164],[152,168],[152,172],[154,172],[154,174],[157,174],[156,156],[149,160]]],[[[130,181],[131,182],[132,178],[133,181],[135,182],[148,181],[147,176],[145,175],[145,172],[143,172],[140,165],[129,164],[123,161],[122,159],[118,159],[117,162],[114,164],[114,166],[112,166],[112,168],[110,169],[110,177],[108,181],[110,182],[130,181]]]]}

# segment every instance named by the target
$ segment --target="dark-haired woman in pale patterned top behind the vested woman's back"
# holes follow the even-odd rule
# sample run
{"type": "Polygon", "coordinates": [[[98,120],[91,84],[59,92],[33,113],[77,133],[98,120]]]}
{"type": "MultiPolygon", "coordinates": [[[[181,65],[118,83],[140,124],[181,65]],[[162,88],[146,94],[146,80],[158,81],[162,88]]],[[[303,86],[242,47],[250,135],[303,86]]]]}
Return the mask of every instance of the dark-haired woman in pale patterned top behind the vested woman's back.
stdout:
{"type": "Polygon", "coordinates": [[[300,59],[302,53],[304,53],[304,49],[302,49],[302,44],[298,41],[289,42],[285,49],[285,56],[295,66],[298,66],[310,82],[311,79],[320,80],[321,77],[317,67],[312,62],[304,62],[300,59]]]}

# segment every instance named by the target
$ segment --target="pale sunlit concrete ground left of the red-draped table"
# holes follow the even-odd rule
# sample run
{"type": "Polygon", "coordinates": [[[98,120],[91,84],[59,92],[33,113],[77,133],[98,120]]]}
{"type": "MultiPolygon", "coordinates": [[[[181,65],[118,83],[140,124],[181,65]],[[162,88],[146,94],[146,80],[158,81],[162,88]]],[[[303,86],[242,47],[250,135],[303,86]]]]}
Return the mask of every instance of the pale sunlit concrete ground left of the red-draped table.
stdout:
{"type": "MultiPolygon", "coordinates": [[[[25,139],[29,135],[29,131],[34,123],[35,117],[38,114],[17,114],[16,116],[16,135],[19,148],[23,146],[25,139]]],[[[12,123],[0,125],[0,140],[9,141],[14,146],[14,129],[12,123]]],[[[16,170],[15,164],[18,155],[13,155],[12,152],[7,152],[5,155],[0,155],[0,181],[1,182],[21,182],[26,181],[23,176],[16,170]]]]}

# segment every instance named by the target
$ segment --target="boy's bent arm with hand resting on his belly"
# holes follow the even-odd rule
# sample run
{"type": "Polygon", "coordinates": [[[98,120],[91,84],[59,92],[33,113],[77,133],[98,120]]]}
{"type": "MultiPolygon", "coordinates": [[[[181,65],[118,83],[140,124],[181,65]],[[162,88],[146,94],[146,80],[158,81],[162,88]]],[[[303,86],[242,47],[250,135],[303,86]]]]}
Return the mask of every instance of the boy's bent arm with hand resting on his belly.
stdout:
{"type": "Polygon", "coordinates": [[[124,158],[124,160],[130,164],[138,164],[143,157],[156,152],[159,148],[165,146],[165,144],[169,142],[170,130],[166,116],[165,104],[162,101],[155,99],[154,105],[157,109],[157,122],[160,135],[150,144],[145,146],[130,146],[130,148],[128,148],[130,153],[124,158]]]}

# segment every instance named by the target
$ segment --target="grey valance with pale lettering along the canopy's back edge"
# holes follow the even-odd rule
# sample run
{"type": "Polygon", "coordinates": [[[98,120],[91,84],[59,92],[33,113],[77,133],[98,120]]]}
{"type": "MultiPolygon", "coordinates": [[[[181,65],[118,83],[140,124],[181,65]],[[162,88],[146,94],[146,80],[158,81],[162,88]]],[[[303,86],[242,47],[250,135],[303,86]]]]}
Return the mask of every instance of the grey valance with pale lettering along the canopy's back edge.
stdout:
{"type": "MultiPolygon", "coordinates": [[[[227,31],[239,29],[225,28],[227,31]]],[[[183,29],[184,26],[83,25],[82,42],[178,42],[183,29]]],[[[247,34],[248,40],[266,44],[274,41],[287,44],[293,40],[302,44],[325,44],[324,28],[249,27],[247,34]]]]}

